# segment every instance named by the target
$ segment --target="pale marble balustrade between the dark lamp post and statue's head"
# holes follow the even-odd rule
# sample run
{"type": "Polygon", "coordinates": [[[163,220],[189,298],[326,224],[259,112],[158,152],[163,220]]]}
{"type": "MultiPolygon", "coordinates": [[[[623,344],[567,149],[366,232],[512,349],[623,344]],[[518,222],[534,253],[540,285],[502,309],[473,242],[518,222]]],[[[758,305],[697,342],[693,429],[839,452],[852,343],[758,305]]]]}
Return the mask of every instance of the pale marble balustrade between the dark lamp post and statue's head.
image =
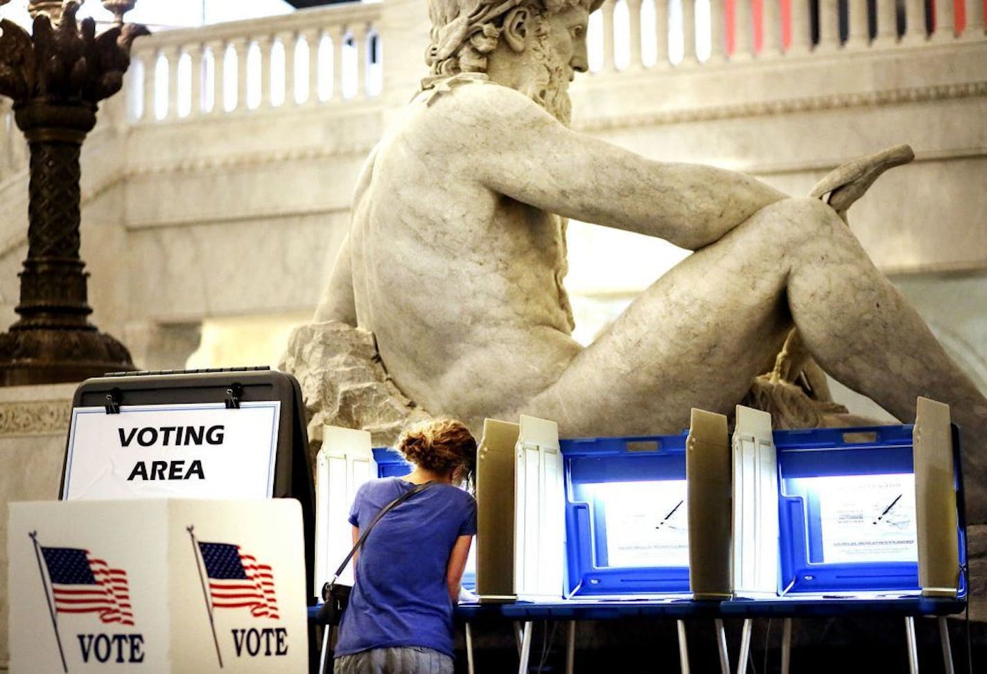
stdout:
{"type": "Polygon", "coordinates": [[[134,46],[130,119],[316,106],[379,93],[380,3],[168,31],[134,46]]]}

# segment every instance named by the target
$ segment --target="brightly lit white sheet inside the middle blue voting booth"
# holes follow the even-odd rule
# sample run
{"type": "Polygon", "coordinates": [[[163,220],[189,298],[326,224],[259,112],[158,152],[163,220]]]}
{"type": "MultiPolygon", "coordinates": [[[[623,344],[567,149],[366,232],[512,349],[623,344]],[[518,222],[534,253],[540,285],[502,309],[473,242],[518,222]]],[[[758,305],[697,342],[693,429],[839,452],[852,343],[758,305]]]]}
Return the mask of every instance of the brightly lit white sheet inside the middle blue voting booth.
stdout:
{"type": "Polygon", "coordinates": [[[685,480],[609,483],[594,488],[606,526],[608,566],[688,566],[685,480]]]}

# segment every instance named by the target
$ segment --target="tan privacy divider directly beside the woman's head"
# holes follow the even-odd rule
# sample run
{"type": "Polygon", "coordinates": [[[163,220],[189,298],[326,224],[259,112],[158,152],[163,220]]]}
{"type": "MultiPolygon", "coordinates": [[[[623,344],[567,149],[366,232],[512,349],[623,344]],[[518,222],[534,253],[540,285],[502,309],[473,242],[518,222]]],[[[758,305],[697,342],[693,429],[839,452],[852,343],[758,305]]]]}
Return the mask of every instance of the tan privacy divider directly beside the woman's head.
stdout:
{"type": "Polygon", "coordinates": [[[477,452],[477,594],[481,601],[514,595],[514,446],[520,426],[484,419],[477,452]]]}

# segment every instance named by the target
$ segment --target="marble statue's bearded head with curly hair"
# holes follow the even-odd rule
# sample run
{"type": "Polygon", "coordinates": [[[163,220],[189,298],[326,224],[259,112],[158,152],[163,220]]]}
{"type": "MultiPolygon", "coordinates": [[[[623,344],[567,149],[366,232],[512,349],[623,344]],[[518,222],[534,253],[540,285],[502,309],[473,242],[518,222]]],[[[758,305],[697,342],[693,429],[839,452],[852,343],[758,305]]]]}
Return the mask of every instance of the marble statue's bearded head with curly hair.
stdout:
{"type": "Polygon", "coordinates": [[[429,0],[433,76],[486,73],[500,44],[513,52],[511,86],[569,123],[569,80],[585,70],[585,22],[603,0],[429,0]]]}

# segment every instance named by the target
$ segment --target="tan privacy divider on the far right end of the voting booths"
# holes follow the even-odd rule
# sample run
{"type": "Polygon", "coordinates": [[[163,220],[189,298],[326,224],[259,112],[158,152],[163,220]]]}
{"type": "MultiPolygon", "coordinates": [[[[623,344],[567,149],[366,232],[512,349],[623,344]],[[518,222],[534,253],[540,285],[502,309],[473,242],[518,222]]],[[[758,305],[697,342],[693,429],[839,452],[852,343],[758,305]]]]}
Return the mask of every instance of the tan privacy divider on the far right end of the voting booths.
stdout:
{"type": "Polygon", "coordinates": [[[959,541],[949,405],[919,398],[912,447],[919,586],[927,597],[953,597],[959,584],[959,541]]]}

